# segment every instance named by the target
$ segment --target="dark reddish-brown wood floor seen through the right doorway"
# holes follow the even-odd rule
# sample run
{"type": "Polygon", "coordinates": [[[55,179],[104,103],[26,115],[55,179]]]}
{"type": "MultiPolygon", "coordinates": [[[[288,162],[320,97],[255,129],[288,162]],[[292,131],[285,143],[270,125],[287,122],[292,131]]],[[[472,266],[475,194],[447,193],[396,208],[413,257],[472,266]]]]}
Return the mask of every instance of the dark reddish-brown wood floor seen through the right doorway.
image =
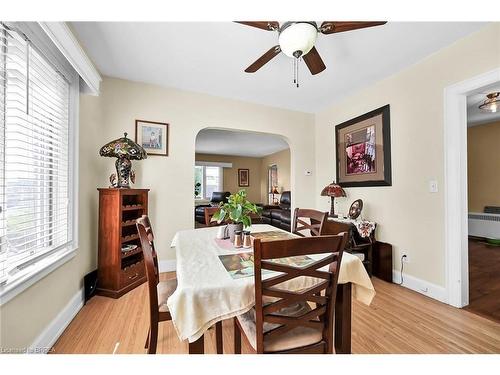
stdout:
{"type": "Polygon", "coordinates": [[[469,240],[468,311],[500,323],[500,247],[469,240]]]}

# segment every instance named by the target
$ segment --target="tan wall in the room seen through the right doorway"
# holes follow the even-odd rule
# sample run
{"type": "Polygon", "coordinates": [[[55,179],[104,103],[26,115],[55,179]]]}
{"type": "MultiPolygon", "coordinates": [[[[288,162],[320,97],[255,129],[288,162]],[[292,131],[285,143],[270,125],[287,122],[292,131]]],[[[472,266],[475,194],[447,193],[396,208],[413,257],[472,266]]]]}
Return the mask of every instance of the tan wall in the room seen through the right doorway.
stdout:
{"type": "Polygon", "coordinates": [[[467,129],[469,211],[500,206],[500,121],[467,129]]]}

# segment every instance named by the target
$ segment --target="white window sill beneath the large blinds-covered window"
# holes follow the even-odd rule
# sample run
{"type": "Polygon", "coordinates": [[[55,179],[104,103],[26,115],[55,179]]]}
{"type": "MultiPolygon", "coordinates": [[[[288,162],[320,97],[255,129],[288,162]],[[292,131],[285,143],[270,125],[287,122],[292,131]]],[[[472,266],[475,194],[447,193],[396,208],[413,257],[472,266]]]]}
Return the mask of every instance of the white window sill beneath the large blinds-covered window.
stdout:
{"type": "Polygon", "coordinates": [[[6,285],[0,286],[0,306],[71,260],[76,255],[76,249],[74,245],[68,246],[65,250],[58,251],[18,272],[6,285]]]}

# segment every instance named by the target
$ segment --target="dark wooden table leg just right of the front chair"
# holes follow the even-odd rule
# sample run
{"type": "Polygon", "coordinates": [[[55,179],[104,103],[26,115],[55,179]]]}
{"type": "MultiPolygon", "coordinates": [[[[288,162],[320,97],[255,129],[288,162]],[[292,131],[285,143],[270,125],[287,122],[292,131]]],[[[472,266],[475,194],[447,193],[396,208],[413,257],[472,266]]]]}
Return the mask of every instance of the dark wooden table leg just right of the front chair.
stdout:
{"type": "Polygon", "coordinates": [[[335,353],[351,354],[351,283],[338,284],[335,302],[335,353]]]}

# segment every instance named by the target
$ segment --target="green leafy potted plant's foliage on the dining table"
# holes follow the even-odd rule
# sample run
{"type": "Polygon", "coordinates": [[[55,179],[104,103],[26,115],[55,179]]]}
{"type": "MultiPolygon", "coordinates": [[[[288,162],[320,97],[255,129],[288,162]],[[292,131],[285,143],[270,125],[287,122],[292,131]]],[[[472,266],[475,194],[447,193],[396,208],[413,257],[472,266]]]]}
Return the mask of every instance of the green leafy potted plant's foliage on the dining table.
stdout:
{"type": "Polygon", "coordinates": [[[236,194],[231,194],[226,203],[219,204],[219,210],[212,216],[212,221],[218,223],[227,220],[233,224],[242,223],[247,228],[252,225],[250,214],[260,216],[262,207],[259,207],[247,200],[247,192],[241,189],[236,194]]]}

